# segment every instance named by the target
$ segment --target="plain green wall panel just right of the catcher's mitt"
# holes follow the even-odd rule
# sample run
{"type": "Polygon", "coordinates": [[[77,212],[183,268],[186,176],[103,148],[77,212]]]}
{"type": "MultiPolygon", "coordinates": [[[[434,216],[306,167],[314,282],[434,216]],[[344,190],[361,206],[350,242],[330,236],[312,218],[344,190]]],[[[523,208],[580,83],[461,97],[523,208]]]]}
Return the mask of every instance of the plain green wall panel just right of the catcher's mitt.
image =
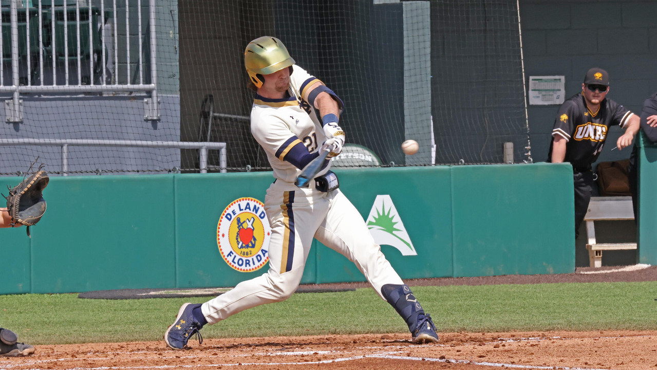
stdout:
{"type": "Polygon", "coordinates": [[[51,177],[44,195],[32,292],[173,286],[173,177],[51,177]]]}

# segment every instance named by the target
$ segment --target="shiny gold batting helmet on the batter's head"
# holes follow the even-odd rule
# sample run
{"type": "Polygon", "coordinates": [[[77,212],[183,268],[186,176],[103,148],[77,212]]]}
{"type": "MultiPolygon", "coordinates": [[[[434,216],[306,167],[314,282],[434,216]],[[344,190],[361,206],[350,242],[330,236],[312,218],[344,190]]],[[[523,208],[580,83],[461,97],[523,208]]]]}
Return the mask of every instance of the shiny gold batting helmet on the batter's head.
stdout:
{"type": "Polygon", "coordinates": [[[248,43],[244,50],[244,67],[251,81],[258,88],[265,83],[262,75],[274,73],[292,64],[294,59],[290,57],[281,40],[276,37],[258,37],[248,43]]]}

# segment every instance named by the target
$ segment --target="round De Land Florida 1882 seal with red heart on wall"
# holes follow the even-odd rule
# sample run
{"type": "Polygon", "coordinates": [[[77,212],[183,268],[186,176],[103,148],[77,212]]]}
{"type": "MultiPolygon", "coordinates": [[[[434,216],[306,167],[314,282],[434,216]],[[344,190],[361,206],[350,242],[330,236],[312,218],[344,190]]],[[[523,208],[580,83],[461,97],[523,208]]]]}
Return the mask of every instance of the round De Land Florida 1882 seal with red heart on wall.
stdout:
{"type": "Polygon", "coordinates": [[[271,227],[265,206],[254,198],[239,198],[223,210],[217,224],[217,245],[226,263],[242,272],[265,266],[269,260],[271,227]]]}

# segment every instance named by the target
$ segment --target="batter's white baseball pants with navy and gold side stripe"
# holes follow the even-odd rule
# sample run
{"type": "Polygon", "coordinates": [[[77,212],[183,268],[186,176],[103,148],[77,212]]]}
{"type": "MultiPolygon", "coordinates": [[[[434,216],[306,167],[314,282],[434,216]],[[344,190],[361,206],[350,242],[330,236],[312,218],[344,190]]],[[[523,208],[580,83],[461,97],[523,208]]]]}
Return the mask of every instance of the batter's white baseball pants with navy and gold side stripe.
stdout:
{"type": "Polygon", "coordinates": [[[310,188],[300,189],[279,179],[267,189],[269,271],[205,302],[201,310],[208,323],[290,298],[301,281],[313,237],[353,262],[379,296],[383,285],[403,284],[340,189],[322,193],[314,189],[315,181],[310,182],[310,188]]]}

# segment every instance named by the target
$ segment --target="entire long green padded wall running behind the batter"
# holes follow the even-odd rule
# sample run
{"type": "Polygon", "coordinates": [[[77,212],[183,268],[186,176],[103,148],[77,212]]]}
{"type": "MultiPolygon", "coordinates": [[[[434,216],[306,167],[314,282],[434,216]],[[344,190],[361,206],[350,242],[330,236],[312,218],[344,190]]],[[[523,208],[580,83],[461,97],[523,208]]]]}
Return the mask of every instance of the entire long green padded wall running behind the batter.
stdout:
{"type": "MultiPolygon", "coordinates": [[[[382,251],[403,279],[575,269],[566,164],[336,173],[366,220],[377,196],[394,204],[417,255],[390,245],[382,251]]],[[[272,180],[271,172],[51,177],[48,210],[32,238],[24,227],[0,230],[9,266],[0,294],[233,287],[267,267],[229,267],[217,248],[217,222],[237,198],[262,201],[272,180]]],[[[18,181],[2,177],[0,187],[18,181]]],[[[315,241],[302,283],[364,280],[315,241]]]]}

